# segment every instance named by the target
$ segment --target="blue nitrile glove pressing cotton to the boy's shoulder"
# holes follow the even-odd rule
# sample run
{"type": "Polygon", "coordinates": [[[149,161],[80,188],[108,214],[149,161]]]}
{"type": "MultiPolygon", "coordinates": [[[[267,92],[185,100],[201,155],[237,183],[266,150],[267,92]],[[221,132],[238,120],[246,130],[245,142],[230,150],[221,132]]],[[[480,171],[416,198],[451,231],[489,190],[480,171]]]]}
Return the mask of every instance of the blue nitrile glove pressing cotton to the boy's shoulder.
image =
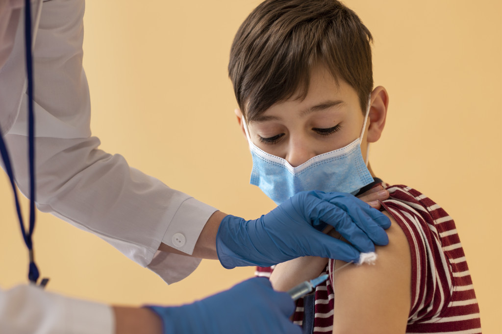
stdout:
{"type": "Polygon", "coordinates": [[[384,229],[390,226],[389,218],[350,194],[301,192],[258,219],[223,218],[216,251],[228,269],[266,267],[309,255],[358,262],[359,253],[389,243],[384,229]],[[326,224],[351,245],[320,232],[326,224]]]}

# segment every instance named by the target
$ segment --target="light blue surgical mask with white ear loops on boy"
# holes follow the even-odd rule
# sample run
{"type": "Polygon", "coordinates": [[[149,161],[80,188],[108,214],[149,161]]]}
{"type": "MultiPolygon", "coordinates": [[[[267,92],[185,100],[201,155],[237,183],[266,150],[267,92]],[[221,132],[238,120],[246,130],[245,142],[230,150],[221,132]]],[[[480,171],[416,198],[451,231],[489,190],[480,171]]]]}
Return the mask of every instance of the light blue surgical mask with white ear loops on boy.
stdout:
{"type": "Polygon", "coordinates": [[[293,167],[286,159],[258,148],[251,141],[244,122],[253,157],[250,184],[258,186],[278,205],[301,191],[357,194],[362,187],[373,182],[361,153],[368,113],[369,102],[359,138],[345,147],[316,155],[297,167],[293,167]]]}

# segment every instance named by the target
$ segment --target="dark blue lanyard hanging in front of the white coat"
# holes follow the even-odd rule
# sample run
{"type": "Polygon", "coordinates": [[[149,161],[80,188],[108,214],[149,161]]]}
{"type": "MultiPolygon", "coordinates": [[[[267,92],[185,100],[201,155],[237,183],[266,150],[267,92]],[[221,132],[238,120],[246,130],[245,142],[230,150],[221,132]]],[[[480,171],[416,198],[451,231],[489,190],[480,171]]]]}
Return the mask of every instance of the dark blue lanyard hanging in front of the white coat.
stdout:
{"type": "MultiPolygon", "coordinates": [[[[35,264],[35,256],[33,251],[33,231],[35,230],[35,117],[33,113],[33,59],[32,59],[32,24],[31,24],[31,3],[30,0],[25,0],[25,44],[26,44],[26,72],[28,74],[28,159],[30,161],[30,226],[28,232],[25,229],[21,206],[18,199],[18,191],[14,182],[14,170],[12,168],[9,151],[5,144],[2,133],[0,132],[0,153],[4,160],[5,169],[11,181],[14,199],[16,201],[16,211],[18,213],[19,223],[21,225],[21,233],[28,248],[30,256],[30,264],[28,278],[31,282],[37,284],[40,276],[37,265],[35,264]]],[[[48,282],[44,278],[40,285],[45,286],[48,282]]]]}

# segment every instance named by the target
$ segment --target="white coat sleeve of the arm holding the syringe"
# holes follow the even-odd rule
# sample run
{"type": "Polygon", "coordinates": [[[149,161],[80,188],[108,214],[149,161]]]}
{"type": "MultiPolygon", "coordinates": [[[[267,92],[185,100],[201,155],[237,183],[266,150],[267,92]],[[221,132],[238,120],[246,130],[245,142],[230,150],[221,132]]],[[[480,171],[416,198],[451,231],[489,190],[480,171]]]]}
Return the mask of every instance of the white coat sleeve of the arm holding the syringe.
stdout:
{"type": "Polygon", "coordinates": [[[0,289],[0,332],[9,334],[112,334],[110,306],[64,297],[33,285],[0,289]]]}

